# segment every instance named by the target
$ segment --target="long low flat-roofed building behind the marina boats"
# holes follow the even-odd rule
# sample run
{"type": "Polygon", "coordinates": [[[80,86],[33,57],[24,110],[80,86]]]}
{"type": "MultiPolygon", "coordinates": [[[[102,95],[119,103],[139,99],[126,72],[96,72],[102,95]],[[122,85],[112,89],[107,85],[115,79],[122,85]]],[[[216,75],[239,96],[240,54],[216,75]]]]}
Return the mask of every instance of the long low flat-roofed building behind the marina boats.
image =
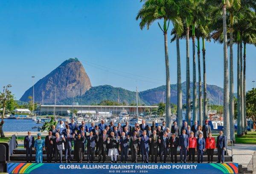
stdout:
{"type": "MultiPolygon", "coordinates": [[[[139,113],[148,113],[152,109],[157,109],[158,106],[138,106],[139,113]]],[[[94,105],[41,105],[41,115],[55,115],[67,116],[70,114],[70,110],[76,109],[77,111],[84,113],[87,111],[96,112],[112,112],[112,114],[118,115],[123,110],[126,110],[129,115],[136,113],[136,106],[94,106],[94,105]]],[[[90,112],[91,113],[91,112],[90,112]]]]}

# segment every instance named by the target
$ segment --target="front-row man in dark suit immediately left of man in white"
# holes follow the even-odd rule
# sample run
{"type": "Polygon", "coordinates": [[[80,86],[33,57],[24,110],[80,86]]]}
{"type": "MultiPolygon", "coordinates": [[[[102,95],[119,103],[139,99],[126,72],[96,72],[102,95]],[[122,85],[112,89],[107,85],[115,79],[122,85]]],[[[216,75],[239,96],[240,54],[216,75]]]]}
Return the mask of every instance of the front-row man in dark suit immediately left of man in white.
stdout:
{"type": "Polygon", "coordinates": [[[102,162],[105,163],[107,139],[108,139],[108,134],[106,130],[103,130],[102,135],[96,135],[96,140],[97,140],[97,143],[99,144],[99,163],[101,162],[101,157],[103,157],[102,162]]]}

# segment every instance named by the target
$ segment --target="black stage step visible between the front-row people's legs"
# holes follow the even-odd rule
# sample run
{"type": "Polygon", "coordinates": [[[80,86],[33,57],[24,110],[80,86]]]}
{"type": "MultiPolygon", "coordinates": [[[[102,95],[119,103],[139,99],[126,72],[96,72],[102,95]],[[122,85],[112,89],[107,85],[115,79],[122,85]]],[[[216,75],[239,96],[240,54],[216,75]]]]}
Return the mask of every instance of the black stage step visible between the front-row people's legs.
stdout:
{"type": "MultiPolygon", "coordinates": [[[[73,155],[71,155],[71,156],[72,156],[72,159],[73,159],[73,155]]],[[[87,161],[87,155],[84,155],[84,158],[85,158],[84,161],[87,161]]],[[[232,157],[225,155],[225,162],[231,162],[231,158],[232,157]]],[[[44,159],[44,161],[47,160],[45,154],[43,155],[43,159],[44,159]]],[[[160,161],[159,159],[160,158],[157,157],[158,162],[160,161]]],[[[35,161],[35,155],[34,154],[32,155],[32,160],[35,161]]],[[[99,160],[98,156],[94,157],[95,162],[98,162],[98,160],[99,160]]],[[[138,162],[141,162],[142,157],[138,157],[137,160],[138,160],[138,162]]],[[[213,161],[217,162],[217,160],[218,160],[218,156],[214,155],[213,156],[213,161]]],[[[12,156],[10,156],[10,161],[26,161],[26,154],[13,154],[12,156]]],[[[64,155],[63,155],[63,161],[65,161],[64,155]]],[[[74,162],[74,160],[72,160],[72,161],[74,162]]],[[[119,162],[121,161],[120,160],[120,155],[119,155],[117,161],[119,161],[119,162]]],[[[149,157],[149,161],[151,161],[151,157],[149,157]]],[[[180,162],[180,155],[177,156],[177,161],[180,162]]],[[[187,158],[187,161],[188,161],[188,158],[187,158]]],[[[207,156],[204,155],[203,161],[207,162],[207,156]]],[[[106,157],[106,162],[111,162],[111,158],[107,156],[106,157]]],[[[128,156],[128,161],[127,162],[131,162],[131,155],[128,156]]],[[[171,162],[171,157],[167,157],[166,162],[170,163],[171,162]]],[[[197,156],[195,156],[195,162],[197,162],[197,156]]]]}

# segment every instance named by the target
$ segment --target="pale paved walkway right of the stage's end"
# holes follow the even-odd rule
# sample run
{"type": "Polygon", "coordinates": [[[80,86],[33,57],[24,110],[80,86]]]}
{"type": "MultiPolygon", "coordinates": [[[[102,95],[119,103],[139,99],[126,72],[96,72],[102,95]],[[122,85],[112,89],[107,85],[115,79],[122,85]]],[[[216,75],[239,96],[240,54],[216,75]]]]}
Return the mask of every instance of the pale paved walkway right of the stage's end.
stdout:
{"type": "MultiPolygon", "coordinates": [[[[231,150],[228,150],[228,153],[229,155],[231,155],[231,150]]],[[[242,166],[247,167],[249,170],[252,170],[253,169],[252,167],[254,166],[254,173],[256,174],[256,145],[255,144],[234,144],[233,145],[233,162],[242,164],[242,166]],[[252,162],[253,162],[253,165],[252,165],[252,162]]]]}

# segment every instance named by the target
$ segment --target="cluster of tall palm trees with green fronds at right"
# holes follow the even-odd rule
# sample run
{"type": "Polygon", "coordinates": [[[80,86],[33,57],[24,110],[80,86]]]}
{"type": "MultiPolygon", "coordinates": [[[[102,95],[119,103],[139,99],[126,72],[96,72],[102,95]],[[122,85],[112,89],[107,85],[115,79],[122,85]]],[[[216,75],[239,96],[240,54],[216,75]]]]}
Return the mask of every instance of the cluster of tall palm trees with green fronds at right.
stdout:
{"type": "MultiPolygon", "coordinates": [[[[192,102],[193,120],[203,121],[207,115],[206,48],[205,41],[223,44],[224,68],[224,134],[235,141],[233,44],[237,44],[237,98],[238,136],[246,133],[245,68],[246,45],[256,45],[256,0],[141,0],[142,8],[136,20],[140,28],[157,22],[164,35],[166,63],[166,122],[171,126],[170,74],[168,55],[168,29],[172,25],[171,42],[177,48],[177,123],[182,126],[182,91],[180,70],[180,39],[186,39],[186,121],[191,123],[189,39],[192,39],[192,102]],[[163,25],[161,25],[163,23],[163,25]],[[201,40],[201,47],[200,47],[201,40]],[[196,45],[197,44],[197,45],[196,45]],[[228,47],[230,49],[228,59],[228,47]],[[198,89],[196,71],[198,60],[198,89]],[[201,50],[203,77],[201,77],[201,50]],[[244,48],[244,49],[242,49],[244,48]],[[229,66],[228,66],[229,65],[229,66]],[[203,90],[203,95],[202,95],[203,90]]],[[[173,54],[172,54],[173,55],[173,54]]]]}

